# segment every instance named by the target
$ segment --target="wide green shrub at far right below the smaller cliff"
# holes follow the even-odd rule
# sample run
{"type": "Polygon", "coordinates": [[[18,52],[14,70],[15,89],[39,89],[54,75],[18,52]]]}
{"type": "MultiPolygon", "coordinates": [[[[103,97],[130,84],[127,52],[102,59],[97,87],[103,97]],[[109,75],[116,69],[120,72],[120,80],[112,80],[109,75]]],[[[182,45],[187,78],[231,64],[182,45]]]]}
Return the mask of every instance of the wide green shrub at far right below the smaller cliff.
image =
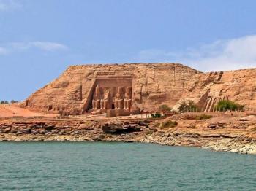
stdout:
{"type": "Polygon", "coordinates": [[[214,109],[220,112],[225,112],[228,110],[244,111],[244,105],[236,104],[235,102],[230,100],[222,100],[218,102],[214,109]]]}

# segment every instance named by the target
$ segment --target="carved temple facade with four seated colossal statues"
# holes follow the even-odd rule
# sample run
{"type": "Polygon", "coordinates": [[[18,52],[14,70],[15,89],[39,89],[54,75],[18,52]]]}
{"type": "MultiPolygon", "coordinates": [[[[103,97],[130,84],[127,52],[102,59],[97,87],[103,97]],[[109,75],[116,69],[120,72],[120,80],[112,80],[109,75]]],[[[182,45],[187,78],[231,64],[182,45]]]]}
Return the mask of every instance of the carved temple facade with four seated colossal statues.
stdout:
{"type": "Polygon", "coordinates": [[[129,115],[132,108],[132,75],[124,71],[98,72],[91,88],[87,112],[108,117],[129,115]]]}

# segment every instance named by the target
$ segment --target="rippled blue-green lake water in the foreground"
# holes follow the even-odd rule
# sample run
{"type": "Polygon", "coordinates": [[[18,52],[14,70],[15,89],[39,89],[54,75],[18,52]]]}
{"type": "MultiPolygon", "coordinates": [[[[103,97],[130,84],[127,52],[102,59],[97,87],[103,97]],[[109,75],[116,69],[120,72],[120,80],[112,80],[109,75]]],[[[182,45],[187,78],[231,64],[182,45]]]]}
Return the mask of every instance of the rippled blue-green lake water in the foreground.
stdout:
{"type": "Polygon", "coordinates": [[[137,143],[0,143],[0,190],[255,188],[255,155],[137,143]]]}

